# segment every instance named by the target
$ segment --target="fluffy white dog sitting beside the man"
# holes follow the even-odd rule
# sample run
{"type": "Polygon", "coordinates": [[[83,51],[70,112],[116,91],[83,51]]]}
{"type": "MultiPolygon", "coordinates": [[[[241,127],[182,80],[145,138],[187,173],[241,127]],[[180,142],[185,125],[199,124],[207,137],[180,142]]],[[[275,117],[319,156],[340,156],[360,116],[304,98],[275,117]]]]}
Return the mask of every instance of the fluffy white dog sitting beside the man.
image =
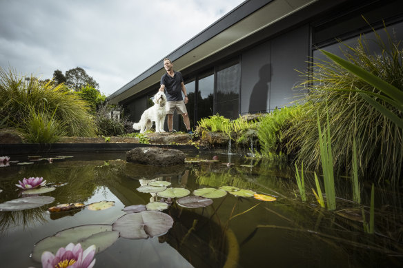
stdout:
{"type": "Polygon", "coordinates": [[[159,91],[155,94],[153,99],[154,105],[149,107],[141,114],[139,123],[134,123],[133,128],[140,130],[140,133],[144,133],[153,127],[153,121],[155,122],[155,132],[165,132],[164,122],[166,116],[166,96],[164,92],[159,91]]]}

